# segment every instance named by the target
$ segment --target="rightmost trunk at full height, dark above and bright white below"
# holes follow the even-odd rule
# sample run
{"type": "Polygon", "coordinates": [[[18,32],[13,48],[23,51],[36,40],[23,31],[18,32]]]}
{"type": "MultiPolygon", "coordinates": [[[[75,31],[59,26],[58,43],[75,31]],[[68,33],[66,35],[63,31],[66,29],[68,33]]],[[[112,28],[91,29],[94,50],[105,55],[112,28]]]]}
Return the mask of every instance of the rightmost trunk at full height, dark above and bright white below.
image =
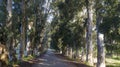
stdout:
{"type": "Polygon", "coordinates": [[[97,67],[105,67],[104,34],[102,34],[99,29],[100,24],[103,22],[103,0],[97,0],[96,5],[97,67]]]}

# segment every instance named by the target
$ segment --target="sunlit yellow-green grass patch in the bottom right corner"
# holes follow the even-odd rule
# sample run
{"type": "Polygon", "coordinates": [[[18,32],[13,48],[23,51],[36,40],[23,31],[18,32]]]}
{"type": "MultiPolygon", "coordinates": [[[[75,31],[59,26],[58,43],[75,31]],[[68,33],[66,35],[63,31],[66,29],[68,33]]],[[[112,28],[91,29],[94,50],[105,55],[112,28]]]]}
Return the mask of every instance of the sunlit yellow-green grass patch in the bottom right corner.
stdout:
{"type": "Polygon", "coordinates": [[[106,58],[107,67],[120,67],[120,57],[113,56],[106,58]]]}

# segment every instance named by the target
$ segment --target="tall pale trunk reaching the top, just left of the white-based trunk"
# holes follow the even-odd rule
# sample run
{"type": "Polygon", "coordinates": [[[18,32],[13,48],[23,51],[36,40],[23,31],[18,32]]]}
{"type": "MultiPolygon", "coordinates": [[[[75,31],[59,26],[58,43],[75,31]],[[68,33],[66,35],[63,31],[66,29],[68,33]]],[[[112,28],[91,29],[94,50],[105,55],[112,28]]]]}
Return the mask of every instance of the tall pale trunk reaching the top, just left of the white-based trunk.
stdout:
{"type": "Polygon", "coordinates": [[[87,44],[87,51],[86,51],[86,61],[88,64],[93,66],[93,46],[92,46],[92,22],[93,22],[93,2],[91,0],[86,0],[86,7],[87,7],[87,31],[86,31],[86,44],[87,44]]]}

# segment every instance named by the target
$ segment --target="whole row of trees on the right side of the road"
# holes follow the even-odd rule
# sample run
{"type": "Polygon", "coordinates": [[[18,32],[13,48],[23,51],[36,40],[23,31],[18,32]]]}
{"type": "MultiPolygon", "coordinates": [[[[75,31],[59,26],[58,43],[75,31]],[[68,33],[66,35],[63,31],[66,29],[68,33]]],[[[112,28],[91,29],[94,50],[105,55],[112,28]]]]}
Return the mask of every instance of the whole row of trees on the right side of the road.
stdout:
{"type": "Polygon", "coordinates": [[[97,67],[105,67],[105,48],[112,53],[118,46],[111,48],[113,43],[119,44],[116,40],[119,40],[119,27],[116,25],[119,24],[118,7],[118,0],[54,1],[51,7],[54,10],[51,45],[56,50],[63,50],[64,55],[70,56],[72,52],[72,58],[81,54],[83,59],[83,54],[86,54],[90,65],[97,63],[97,67]],[[94,62],[96,57],[97,62],[94,62]]]}

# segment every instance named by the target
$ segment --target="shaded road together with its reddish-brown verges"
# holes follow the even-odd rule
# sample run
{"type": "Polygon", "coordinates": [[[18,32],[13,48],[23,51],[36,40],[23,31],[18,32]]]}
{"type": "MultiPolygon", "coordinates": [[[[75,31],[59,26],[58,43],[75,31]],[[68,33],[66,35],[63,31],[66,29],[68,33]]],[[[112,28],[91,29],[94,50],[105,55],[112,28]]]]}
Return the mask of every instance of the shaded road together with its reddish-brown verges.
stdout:
{"type": "Polygon", "coordinates": [[[56,55],[49,49],[43,56],[20,64],[20,67],[89,67],[56,55]]]}

